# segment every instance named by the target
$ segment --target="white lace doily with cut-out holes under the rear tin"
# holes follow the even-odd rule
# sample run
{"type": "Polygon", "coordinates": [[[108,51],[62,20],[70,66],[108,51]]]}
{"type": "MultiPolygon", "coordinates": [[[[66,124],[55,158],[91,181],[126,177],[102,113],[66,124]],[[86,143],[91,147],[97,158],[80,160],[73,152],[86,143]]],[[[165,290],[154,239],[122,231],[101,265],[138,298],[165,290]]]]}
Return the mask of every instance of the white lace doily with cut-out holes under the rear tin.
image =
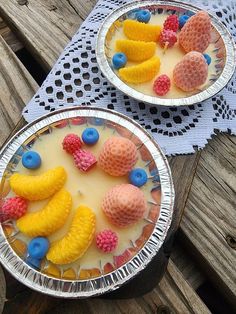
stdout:
{"type": "MultiPolygon", "coordinates": [[[[128,0],[100,0],[67,45],[37,94],[23,111],[26,121],[63,106],[93,105],[117,110],[138,121],[166,155],[192,153],[207,144],[215,130],[236,134],[236,77],[213,98],[188,107],[139,103],[114,88],[95,57],[98,29],[104,18],[128,0]]],[[[236,1],[188,0],[216,14],[236,38],[236,1]]]]}

